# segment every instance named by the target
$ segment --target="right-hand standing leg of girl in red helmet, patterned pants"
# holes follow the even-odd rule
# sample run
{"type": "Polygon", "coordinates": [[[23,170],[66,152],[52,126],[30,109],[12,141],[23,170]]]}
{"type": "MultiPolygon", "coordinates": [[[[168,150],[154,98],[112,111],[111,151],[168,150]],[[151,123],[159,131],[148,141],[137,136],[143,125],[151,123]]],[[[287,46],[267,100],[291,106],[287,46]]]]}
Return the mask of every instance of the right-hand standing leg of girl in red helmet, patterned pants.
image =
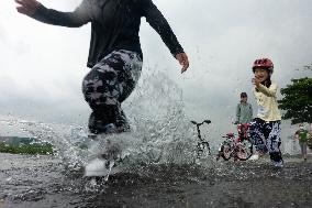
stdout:
{"type": "Polygon", "coordinates": [[[270,154],[270,160],[275,164],[282,164],[282,157],[280,152],[280,121],[269,122],[266,123],[266,131],[269,132],[269,135],[267,138],[267,149],[270,154]]]}

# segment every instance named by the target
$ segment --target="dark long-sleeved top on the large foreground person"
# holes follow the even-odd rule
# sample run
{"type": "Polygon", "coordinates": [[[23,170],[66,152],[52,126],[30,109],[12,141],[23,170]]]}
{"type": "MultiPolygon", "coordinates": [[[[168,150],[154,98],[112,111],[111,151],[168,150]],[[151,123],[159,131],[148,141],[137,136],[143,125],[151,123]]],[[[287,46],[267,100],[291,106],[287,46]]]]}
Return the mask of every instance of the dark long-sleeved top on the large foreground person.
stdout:
{"type": "Polygon", "coordinates": [[[32,18],[69,28],[91,22],[88,67],[93,67],[114,50],[133,51],[143,56],[138,37],[142,17],[157,31],[174,56],[183,52],[152,0],[82,0],[74,12],[59,12],[41,6],[32,18]]]}

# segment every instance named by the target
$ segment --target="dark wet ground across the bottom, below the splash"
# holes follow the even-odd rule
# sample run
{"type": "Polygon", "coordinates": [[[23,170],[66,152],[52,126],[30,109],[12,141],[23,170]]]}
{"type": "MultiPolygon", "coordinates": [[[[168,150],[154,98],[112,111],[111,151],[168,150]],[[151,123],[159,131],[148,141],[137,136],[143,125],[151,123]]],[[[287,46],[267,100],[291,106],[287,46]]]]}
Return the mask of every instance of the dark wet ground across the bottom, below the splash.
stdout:
{"type": "Polygon", "coordinates": [[[142,165],[137,173],[82,178],[52,156],[0,154],[0,208],[312,207],[312,158],[142,165]]]}

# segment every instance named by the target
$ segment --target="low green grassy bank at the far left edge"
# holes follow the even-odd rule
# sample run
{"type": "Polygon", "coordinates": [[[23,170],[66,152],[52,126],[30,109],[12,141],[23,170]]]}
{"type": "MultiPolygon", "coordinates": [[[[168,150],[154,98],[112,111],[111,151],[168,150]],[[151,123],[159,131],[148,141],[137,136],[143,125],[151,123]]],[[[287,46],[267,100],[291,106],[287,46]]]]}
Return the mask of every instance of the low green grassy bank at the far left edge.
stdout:
{"type": "Polygon", "coordinates": [[[53,154],[52,144],[8,144],[7,142],[0,142],[0,152],[11,154],[53,154]]]}

